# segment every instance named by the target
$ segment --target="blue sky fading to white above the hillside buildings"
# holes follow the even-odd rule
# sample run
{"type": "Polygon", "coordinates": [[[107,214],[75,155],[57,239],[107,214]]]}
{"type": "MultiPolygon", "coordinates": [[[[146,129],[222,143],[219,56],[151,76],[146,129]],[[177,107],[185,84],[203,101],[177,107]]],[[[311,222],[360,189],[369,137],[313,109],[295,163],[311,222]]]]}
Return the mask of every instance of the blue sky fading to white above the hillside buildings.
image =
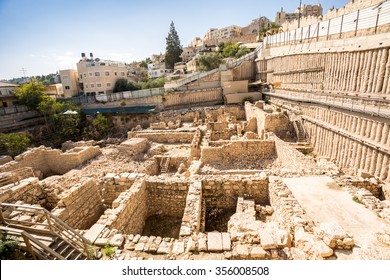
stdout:
{"type": "MultiPolygon", "coordinates": [[[[318,0],[303,0],[317,4],[318,0]]],[[[321,0],[324,11],[348,0],[321,0]]],[[[81,52],[124,62],[165,51],[174,21],[183,46],[211,27],[273,20],[299,0],[0,0],[0,80],[76,68],[81,52]]]]}

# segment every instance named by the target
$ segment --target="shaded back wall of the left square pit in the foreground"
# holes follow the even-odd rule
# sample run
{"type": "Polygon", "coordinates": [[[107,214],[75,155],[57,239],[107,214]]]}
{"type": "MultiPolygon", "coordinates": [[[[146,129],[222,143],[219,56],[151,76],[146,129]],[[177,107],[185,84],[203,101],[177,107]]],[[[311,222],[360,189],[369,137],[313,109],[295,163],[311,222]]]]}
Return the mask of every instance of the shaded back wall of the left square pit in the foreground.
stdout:
{"type": "Polygon", "coordinates": [[[156,214],[172,217],[183,216],[189,182],[173,178],[167,182],[166,179],[149,177],[146,187],[148,216],[156,214]]]}

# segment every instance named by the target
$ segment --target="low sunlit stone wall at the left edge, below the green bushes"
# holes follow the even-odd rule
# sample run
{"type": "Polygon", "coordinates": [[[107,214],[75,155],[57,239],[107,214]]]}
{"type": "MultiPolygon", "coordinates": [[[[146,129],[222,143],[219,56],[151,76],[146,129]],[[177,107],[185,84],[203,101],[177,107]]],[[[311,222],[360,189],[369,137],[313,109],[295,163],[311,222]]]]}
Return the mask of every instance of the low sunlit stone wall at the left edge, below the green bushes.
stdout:
{"type": "Polygon", "coordinates": [[[42,172],[44,177],[62,175],[100,153],[100,148],[97,146],[74,148],[65,153],[41,146],[16,156],[14,161],[0,166],[0,172],[32,167],[42,172]]]}

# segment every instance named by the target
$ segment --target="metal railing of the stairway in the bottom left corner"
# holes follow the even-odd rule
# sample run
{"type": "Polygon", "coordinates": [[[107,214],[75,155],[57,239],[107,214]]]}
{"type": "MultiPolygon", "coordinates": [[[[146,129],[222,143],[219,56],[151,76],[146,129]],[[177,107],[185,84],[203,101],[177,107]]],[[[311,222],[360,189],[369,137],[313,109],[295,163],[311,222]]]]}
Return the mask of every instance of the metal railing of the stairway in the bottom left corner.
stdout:
{"type": "MultiPolygon", "coordinates": [[[[29,233],[42,233],[58,236],[65,240],[69,245],[84,253],[88,258],[92,259],[92,252],[89,250],[89,240],[42,207],[0,203],[0,223],[29,233]],[[36,215],[39,217],[39,222],[19,221],[5,218],[2,214],[3,209],[19,211],[23,214],[29,214],[30,216],[36,215]]],[[[43,249],[47,250],[47,248],[43,249]]]]}

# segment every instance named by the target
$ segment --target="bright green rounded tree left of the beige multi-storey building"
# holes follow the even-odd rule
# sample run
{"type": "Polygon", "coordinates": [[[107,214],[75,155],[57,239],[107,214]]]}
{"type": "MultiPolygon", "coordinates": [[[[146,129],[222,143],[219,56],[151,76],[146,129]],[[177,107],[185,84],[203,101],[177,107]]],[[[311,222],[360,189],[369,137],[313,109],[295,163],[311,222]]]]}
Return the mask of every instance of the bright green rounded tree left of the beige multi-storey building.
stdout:
{"type": "Polygon", "coordinates": [[[19,103],[26,105],[30,110],[37,110],[39,103],[47,98],[45,86],[37,80],[32,80],[16,89],[14,94],[18,98],[19,103]]]}

